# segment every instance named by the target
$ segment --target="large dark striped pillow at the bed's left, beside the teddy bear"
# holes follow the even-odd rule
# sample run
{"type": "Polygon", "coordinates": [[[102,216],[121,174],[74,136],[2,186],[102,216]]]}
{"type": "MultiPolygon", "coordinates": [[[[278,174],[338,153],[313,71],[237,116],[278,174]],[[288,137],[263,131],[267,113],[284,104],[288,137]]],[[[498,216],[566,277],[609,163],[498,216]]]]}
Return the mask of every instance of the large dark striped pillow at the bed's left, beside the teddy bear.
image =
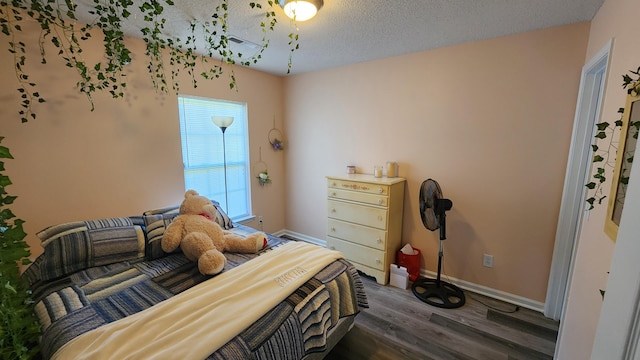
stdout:
{"type": "Polygon", "coordinates": [[[40,279],[143,258],[141,225],[140,217],[120,217],[58,224],[40,231],[37,236],[44,248],[37,259],[40,279]]]}

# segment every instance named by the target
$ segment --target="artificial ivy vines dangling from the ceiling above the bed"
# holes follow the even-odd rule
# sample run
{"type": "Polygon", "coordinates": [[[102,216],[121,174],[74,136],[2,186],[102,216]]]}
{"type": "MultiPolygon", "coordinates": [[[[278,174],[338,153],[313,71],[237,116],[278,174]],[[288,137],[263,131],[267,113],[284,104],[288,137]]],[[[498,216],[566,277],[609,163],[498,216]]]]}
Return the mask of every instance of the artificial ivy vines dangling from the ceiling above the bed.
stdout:
{"type": "MultiPolygon", "coordinates": [[[[192,85],[197,87],[198,78],[220,78],[224,64],[251,66],[258,63],[269,46],[268,35],[277,24],[275,0],[248,1],[251,9],[262,10],[262,17],[258,19],[262,39],[258,51],[245,56],[235,53],[229,43],[229,0],[219,0],[208,19],[193,19],[188,24],[191,35],[186,39],[172,38],[163,32],[167,22],[165,9],[175,6],[173,0],[144,0],[137,4],[133,0],[93,0],[89,14],[94,20],[84,25],[79,23],[77,5],[73,0],[0,0],[0,31],[9,38],[8,50],[14,56],[18,91],[22,99],[22,109],[19,111],[22,122],[35,119],[34,104],[45,102],[26,69],[26,41],[36,40],[22,40],[19,36],[22,24],[29,18],[36,20],[41,27],[37,40],[41,63],[47,63],[49,54],[45,52],[45,43],[49,42],[57,49],[57,55],[65,60],[66,66],[74,69],[79,76],[77,88],[87,96],[92,110],[96,91],[108,91],[114,98],[125,95],[125,66],[132,61],[132,56],[125,44],[124,25],[134,13],[140,14],[138,16],[147,24],[140,30],[148,58],[147,69],[156,91],[164,93],[170,89],[176,93],[179,91],[178,75],[181,70],[187,71],[192,85]],[[82,48],[83,42],[91,38],[92,29],[101,31],[104,45],[104,59],[95,64],[87,63],[82,48]],[[198,49],[199,43],[204,43],[205,48],[198,49]],[[164,60],[166,53],[168,64],[164,60]],[[197,60],[206,67],[199,74],[195,72],[197,60]]],[[[291,52],[299,48],[297,30],[289,34],[289,46],[291,52]]],[[[291,66],[290,54],[287,72],[291,71],[291,66]]],[[[229,88],[237,89],[233,68],[228,76],[229,88]]]]}

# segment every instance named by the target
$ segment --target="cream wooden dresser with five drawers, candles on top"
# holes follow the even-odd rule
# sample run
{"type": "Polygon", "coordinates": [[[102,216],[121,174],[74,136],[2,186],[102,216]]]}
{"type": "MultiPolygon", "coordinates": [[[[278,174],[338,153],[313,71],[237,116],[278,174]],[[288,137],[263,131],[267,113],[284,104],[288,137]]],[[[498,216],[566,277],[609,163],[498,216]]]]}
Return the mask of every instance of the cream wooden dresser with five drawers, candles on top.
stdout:
{"type": "Polygon", "coordinates": [[[398,177],[327,176],[327,247],[383,285],[401,246],[404,187],[398,177]]]}

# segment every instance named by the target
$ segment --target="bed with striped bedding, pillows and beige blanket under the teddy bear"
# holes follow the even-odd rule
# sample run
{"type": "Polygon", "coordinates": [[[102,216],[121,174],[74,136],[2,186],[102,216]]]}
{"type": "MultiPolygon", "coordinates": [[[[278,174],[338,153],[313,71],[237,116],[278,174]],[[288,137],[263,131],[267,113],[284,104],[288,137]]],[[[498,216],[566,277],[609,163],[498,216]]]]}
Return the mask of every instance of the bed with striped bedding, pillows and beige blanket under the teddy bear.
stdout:
{"type": "MultiPolygon", "coordinates": [[[[217,204],[216,204],[217,205],[217,204]]],[[[160,239],[178,207],[38,233],[25,271],[44,359],[320,359],[367,308],[356,269],[326,248],[267,234],[205,276],[160,239]]],[[[215,219],[239,235],[219,209],[215,219]]]]}

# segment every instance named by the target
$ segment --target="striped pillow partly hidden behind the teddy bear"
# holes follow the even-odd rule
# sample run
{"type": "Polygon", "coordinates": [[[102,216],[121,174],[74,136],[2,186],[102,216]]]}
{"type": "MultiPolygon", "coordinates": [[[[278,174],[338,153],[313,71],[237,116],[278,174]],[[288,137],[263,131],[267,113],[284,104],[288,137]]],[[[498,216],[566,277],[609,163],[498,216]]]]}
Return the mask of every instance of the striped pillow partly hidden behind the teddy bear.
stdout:
{"type": "MultiPolygon", "coordinates": [[[[218,223],[223,229],[231,229],[234,227],[231,218],[222,210],[220,203],[213,201],[213,205],[216,207],[217,214],[214,217],[214,221],[218,223]]],[[[162,235],[167,226],[171,224],[173,219],[180,215],[180,206],[168,206],[165,208],[147,210],[143,214],[145,233],[146,233],[146,245],[145,256],[149,260],[157,259],[166,255],[162,250],[161,240],[162,235]]],[[[180,252],[180,248],[174,252],[180,252]]]]}

